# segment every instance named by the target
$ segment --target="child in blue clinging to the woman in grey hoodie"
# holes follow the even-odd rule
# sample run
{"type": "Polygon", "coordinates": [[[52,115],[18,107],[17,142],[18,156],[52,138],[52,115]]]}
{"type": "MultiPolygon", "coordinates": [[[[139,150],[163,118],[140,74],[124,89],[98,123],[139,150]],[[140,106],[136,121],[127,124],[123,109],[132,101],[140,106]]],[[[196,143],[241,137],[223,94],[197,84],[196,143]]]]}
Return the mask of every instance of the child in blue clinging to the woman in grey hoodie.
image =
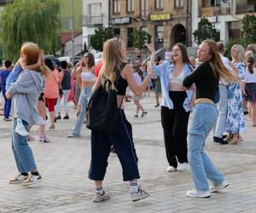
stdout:
{"type": "MultiPolygon", "coordinates": [[[[5,89],[6,91],[9,89],[9,87],[11,86],[12,83],[15,83],[17,78],[20,75],[20,72],[22,70],[26,70],[26,69],[34,69],[38,66],[41,66],[41,61],[38,60],[38,62],[36,64],[33,64],[31,66],[25,66],[24,63],[22,62],[21,58],[17,61],[17,63],[15,64],[14,70],[12,72],[9,73],[9,76],[6,78],[6,86],[5,89]]],[[[44,119],[42,117],[40,117],[38,115],[37,118],[37,124],[39,125],[45,125],[44,119]]],[[[22,136],[28,136],[29,133],[26,131],[25,126],[22,123],[22,119],[17,118],[17,126],[15,128],[15,132],[18,133],[19,135],[22,136]]]]}

